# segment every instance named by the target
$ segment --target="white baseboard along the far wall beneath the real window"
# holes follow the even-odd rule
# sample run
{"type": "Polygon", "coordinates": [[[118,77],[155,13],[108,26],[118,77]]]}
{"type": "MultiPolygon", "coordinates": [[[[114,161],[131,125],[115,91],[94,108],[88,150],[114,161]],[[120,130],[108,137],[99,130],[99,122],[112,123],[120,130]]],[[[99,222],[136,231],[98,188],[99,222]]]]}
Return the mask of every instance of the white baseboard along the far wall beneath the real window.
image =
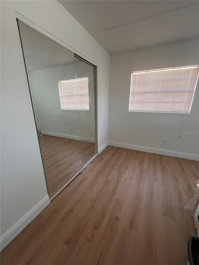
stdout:
{"type": "Polygon", "coordinates": [[[178,157],[178,158],[186,158],[186,159],[199,161],[199,155],[195,155],[195,154],[181,153],[181,152],[175,152],[175,151],[170,151],[170,150],[150,148],[150,147],[133,145],[133,144],[123,144],[123,143],[117,143],[117,142],[109,142],[109,145],[148,152],[148,153],[155,153],[155,154],[160,154],[160,155],[166,155],[166,156],[172,156],[172,157],[178,157]]]}

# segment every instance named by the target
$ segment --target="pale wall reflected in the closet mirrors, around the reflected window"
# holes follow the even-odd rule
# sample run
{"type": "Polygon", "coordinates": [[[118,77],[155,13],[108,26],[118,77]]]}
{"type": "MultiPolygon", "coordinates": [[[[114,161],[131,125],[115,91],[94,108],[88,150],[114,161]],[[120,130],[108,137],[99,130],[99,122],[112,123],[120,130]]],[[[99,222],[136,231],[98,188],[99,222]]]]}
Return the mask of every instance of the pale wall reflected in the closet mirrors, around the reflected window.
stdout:
{"type": "Polygon", "coordinates": [[[95,141],[94,82],[92,66],[76,62],[77,78],[89,78],[89,111],[61,110],[58,81],[75,79],[74,64],[29,71],[38,129],[45,134],[95,141]],[[79,115],[78,115],[79,114],[79,115]],[[78,122],[79,116],[79,122],[78,122]],[[66,124],[66,125],[65,125],[66,124]],[[71,129],[72,128],[72,132],[71,129]]]}

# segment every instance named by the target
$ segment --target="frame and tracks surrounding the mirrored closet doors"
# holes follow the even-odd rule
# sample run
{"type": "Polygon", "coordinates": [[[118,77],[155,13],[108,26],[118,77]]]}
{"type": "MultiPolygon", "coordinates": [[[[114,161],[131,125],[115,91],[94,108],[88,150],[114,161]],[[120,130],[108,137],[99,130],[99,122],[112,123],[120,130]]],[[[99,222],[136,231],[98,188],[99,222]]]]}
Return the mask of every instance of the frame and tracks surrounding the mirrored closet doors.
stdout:
{"type": "Polygon", "coordinates": [[[55,37],[54,35],[52,35],[51,33],[49,33],[48,31],[44,30],[43,28],[41,28],[40,26],[36,25],[34,22],[30,21],[29,19],[27,19],[25,16],[22,16],[21,14],[19,14],[17,11],[15,11],[16,14],[16,23],[17,23],[17,27],[18,27],[18,31],[19,31],[19,37],[20,37],[20,43],[21,43],[21,49],[22,49],[22,55],[23,55],[23,60],[24,60],[24,65],[25,65],[25,73],[26,73],[26,77],[27,77],[27,83],[28,83],[28,88],[29,88],[29,92],[30,92],[30,100],[31,100],[31,105],[32,105],[32,109],[33,109],[33,116],[34,116],[34,120],[35,120],[35,128],[36,128],[36,133],[37,133],[37,138],[38,138],[38,144],[39,144],[39,149],[40,149],[40,154],[41,154],[41,160],[42,160],[42,165],[43,165],[43,169],[44,169],[44,176],[45,176],[45,181],[46,181],[46,187],[47,187],[47,191],[48,191],[48,195],[50,200],[52,200],[61,190],[63,190],[97,155],[98,155],[98,123],[97,123],[97,63],[93,62],[92,60],[90,60],[89,58],[87,58],[86,56],[84,56],[83,54],[79,53],[78,51],[76,51],[75,49],[73,49],[71,46],[69,46],[67,43],[63,42],[62,40],[58,39],[57,37],[55,37]],[[34,105],[33,105],[33,100],[32,100],[32,95],[31,95],[31,90],[30,90],[30,84],[29,84],[29,78],[28,78],[28,73],[27,73],[27,69],[26,69],[26,64],[25,64],[25,57],[24,57],[24,51],[23,51],[23,46],[22,46],[22,41],[21,41],[21,34],[20,34],[20,29],[19,29],[19,24],[18,21],[20,21],[21,23],[27,25],[28,27],[32,28],[33,30],[36,30],[38,33],[44,35],[45,37],[47,37],[48,39],[54,41],[55,43],[61,45],[63,48],[66,48],[67,50],[69,50],[70,52],[74,53],[74,58],[75,56],[87,63],[89,63],[90,65],[94,66],[94,104],[95,104],[95,155],[90,158],[90,160],[88,162],[86,162],[86,164],[83,165],[83,167],[81,168],[81,170],[79,172],[76,173],[75,176],[73,176],[60,190],[58,190],[52,197],[50,197],[50,193],[49,193],[49,186],[48,186],[48,181],[46,178],[46,172],[45,172],[45,167],[44,167],[44,161],[43,161],[43,157],[42,157],[42,152],[41,152],[41,146],[40,146],[40,142],[39,142],[39,132],[38,132],[38,128],[37,128],[37,123],[36,123],[36,118],[35,118],[35,111],[34,111],[34,105]],[[89,60],[89,61],[88,61],[89,60]]]}

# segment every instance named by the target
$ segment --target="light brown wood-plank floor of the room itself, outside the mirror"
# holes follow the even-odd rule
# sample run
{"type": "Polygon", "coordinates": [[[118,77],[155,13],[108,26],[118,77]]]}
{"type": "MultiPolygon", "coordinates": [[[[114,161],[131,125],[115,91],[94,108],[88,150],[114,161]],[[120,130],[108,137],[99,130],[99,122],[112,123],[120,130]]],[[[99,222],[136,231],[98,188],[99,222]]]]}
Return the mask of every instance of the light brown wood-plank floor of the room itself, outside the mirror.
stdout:
{"type": "Polygon", "coordinates": [[[1,265],[185,265],[197,161],[108,146],[1,252],[1,265]]]}

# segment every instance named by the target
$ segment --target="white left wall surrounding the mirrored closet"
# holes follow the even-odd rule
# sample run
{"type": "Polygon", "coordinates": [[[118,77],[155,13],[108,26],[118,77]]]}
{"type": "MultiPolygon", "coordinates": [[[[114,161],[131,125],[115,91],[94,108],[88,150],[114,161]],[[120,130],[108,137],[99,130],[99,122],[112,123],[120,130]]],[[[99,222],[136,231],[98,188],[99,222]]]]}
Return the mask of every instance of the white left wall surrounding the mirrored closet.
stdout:
{"type": "Polygon", "coordinates": [[[47,195],[16,12],[98,65],[98,147],[108,141],[109,54],[58,1],[1,1],[1,235],[47,195]]]}

